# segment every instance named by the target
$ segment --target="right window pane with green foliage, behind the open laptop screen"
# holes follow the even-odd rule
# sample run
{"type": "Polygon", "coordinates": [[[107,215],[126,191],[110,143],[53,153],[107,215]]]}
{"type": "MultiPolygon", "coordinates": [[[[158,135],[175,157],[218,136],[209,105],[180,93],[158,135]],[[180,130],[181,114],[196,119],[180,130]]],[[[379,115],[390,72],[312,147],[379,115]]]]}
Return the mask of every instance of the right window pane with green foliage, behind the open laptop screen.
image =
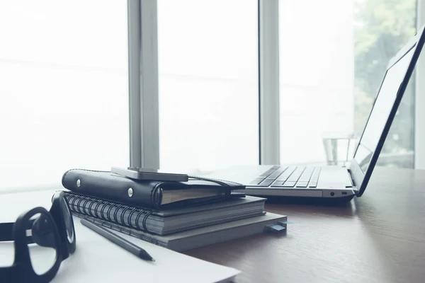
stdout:
{"type": "MultiPolygon", "coordinates": [[[[324,161],[324,136],[363,132],[388,60],[415,33],[416,1],[279,4],[280,161],[324,161]]],[[[413,84],[380,165],[414,166],[413,84]]]]}

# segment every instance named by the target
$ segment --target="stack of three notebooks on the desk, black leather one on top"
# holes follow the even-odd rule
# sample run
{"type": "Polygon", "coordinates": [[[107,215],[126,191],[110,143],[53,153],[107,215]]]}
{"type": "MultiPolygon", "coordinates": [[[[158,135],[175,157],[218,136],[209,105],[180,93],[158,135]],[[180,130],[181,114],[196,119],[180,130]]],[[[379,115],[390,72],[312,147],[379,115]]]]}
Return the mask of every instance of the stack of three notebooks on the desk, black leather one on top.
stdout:
{"type": "Polygon", "coordinates": [[[74,216],[176,251],[286,228],[286,216],[264,211],[266,199],[223,180],[135,180],[73,169],[62,185],[74,216]]]}

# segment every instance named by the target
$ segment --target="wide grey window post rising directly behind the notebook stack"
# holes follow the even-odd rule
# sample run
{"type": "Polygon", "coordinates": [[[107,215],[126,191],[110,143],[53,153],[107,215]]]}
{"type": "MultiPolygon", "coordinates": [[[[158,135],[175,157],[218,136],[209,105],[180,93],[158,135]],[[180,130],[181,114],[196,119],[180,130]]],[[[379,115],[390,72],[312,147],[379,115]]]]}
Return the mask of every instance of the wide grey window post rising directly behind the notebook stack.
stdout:
{"type": "Polygon", "coordinates": [[[128,0],[130,167],[159,169],[157,0],[128,0]]]}

